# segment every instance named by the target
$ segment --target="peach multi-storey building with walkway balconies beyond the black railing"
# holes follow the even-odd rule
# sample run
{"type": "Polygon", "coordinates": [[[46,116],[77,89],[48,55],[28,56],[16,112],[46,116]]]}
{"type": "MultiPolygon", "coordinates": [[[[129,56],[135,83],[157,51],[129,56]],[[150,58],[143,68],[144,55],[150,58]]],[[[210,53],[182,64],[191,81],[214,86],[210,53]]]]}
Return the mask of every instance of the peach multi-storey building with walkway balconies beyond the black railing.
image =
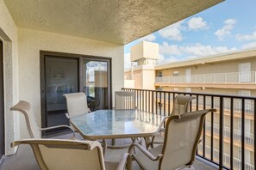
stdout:
{"type": "MultiPolygon", "coordinates": [[[[144,42],[145,43],[145,42],[144,42]]],[[[143,43],[141,43],[143,44],[143,43]]],[[[144,49],[145,50],[145,49],[144,49]]],[[[133,48],[131,54],[133,54],[133,48]]],[[[137,53],[137,55],[140,53],[137,53]]],[[[139,58],[139,56],[137,56],[139,58]]],[[[143,57],[142,57],[143,58],[143,57]]],[[[159,64],[151,66],[152,73],[145,75],[143,64],[138,64],[133,71],[125,71],[125,79],[129,75],[134,75],[134,88],[143,88],[142,79],[136,82],[136,77],[140,73],[141,77],[147,76],[147,83],[159,91],[176,91],[197,94],[225,94],[234,96],[256,96],[256,50],[242,52],[231,52],[222,55],[215,55],[203,58],[192,58],[170,64],[159,64]],[[140,68],[140,69],[139,69],[140,68]],[[136,74],[134,74],[134,70],[136,74]],[[140,72],[138,71],[140,70],[140,72]]],[[[147,64],[145,64],[147,65],[147,64]]],[[[144,80],[144,79],[143,79],[144,80]]],[[[150,85],[147,85],[148,87],[150,85]]],[[[144,88],[145,89],[145,88],[144,88]]],[[[219,108],[219,99],[214,99],[215,108],[219,108]]],[[[164,102],[164,101],[162,101],[164,102]]],[[[206,98],[206,107],[211,106],[209,98],[206,98]]],[[[241,161],[241,100],[234,99],[234,168],[240,169],[241,161]]],[[[166,105],[166,103],[165,103],[166,105]]],[[[196,101],[193,101],[193,109],[196,109],[196,101]]],[[[254,104],[253,100],[245,100],[245,161],[246,169],[253,169],[254,164],[254,104]]],[[[223,163],[229,166],[230,160],[230,100],[224,99],[224,127],[223,128],[223,163]]],[[[203,108],[203,100],[199,100],[199,109],[203,108]],[[201,107],[200,107],[201,105],[201,107]]],[[[214,115],[214,150],[213,159],[219,157],[219,118],[220,113],[214,115]]],[[[210,155],[210,131],[211,119],[208,117],[205,124],[205,155],[210,155]]],[[[203,153],[202,143],[199,144],[198,152],[203,153]]]]}

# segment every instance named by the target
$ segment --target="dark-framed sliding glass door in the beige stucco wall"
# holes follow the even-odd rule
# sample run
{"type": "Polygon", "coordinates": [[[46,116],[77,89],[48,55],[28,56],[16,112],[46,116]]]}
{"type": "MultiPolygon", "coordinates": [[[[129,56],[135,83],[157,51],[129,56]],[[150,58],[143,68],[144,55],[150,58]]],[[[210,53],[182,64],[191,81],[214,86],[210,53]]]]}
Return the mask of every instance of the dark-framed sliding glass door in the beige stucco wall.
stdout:
{"type": "Polygon", "coordinates": [[[41,52],[41,126],[69,124],[63,94],[84,92],[91,111],[111,108],[110,68],[110,58],[41,52]]]}

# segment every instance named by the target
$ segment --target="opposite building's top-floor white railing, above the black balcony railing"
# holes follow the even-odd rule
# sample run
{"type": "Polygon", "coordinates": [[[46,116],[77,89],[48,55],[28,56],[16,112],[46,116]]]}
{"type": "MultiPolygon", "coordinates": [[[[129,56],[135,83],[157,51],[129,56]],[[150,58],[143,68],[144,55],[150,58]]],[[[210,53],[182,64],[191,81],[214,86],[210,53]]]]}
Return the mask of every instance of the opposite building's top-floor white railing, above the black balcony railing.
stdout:
{"type": "Polygon", "coordinates": [[[256,71],[215,73],[190,76],[156,76],[164,83],[256,83],[256,71]]]}

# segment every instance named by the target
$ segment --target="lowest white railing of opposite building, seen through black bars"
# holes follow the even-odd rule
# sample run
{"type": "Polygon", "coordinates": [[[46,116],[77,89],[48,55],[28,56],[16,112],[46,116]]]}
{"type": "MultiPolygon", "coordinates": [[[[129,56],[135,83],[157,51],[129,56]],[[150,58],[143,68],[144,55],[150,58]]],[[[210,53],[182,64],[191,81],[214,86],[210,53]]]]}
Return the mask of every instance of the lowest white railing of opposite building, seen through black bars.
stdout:
{"type": "MultiPolygon", "coordinates": [[[[198,152],[203,153],[203,144],[199,143],[198,152]]],[[[205,145],[205,155],[210,156],[210,147],[205,145]]],[[[219,160],[219,150],[213,149],[213,158],[215,160],[219,160]]],[[[226,166],[230,166],[230,155],[227,153],[223,153],[223,164],[226,166]]],[[[233,157],[233,166],[234,169],[240,170],[241,169],[241,160],[239,158],[233,157]]],[[[254,170],[253,164],[245,162],[245,169],[246,170],[254,170]]]]}

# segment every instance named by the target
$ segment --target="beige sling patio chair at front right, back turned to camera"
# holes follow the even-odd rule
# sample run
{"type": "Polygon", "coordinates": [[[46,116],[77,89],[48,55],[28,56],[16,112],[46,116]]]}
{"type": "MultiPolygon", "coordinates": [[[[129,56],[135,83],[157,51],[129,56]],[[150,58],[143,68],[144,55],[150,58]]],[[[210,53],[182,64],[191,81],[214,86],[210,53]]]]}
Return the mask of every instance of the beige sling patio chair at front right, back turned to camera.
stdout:
{"type": "Polygon", "coordinates": [[[147,170],[172,170],[191,166],[195,161],[197,144],[208,112],[215,112],[215,109],[186,112],[180,116],[169,117],[163,145],[147,150],[134,143],[129,148],[129,153],[132,153],[134,148],[139,149],[140,151],[132,157],[140,167],[147,170]]]}

